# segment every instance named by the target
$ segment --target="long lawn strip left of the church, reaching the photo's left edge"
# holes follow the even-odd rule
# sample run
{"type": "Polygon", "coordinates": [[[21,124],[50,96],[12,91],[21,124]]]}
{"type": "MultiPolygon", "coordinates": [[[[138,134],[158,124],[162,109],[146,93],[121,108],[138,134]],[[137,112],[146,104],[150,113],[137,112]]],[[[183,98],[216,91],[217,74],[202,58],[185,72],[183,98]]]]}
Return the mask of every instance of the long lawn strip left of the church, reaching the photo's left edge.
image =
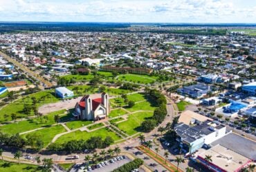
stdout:
{"type": "Polygon", "coordinates": [[[47,118],[33,118],[28,120],[19,121],[16,123],[10,123],[8,125],[3,125],[0,127],[0,131],[3,133],[23,133],[25,131],[30,131],[40,127],[47,127],[49,125],[55,124],[54,116],[57,114],[63,114],[66,110],[54,111],[47,115],[47,118]]]}

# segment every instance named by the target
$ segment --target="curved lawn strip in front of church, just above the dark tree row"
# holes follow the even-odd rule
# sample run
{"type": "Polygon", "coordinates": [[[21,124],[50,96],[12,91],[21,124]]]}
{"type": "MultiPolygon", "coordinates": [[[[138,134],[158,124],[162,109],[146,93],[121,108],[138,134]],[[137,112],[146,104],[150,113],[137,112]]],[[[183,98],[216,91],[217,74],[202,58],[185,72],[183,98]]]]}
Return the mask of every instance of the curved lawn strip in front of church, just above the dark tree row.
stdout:
{"type": "Polygon", "coordinates": [[[64,143],[70,140],[88,140],[91,137],[102,137],[102,139],[106,138],[107,136],[111,136],[113,140],[120,140],[120,136],[116,135],[113,131],[107,128],[98,129],[96,131],[87,132],[87,131],[73,131],[71,133],[67,133],[64,136],[61,136],[56,140],[57,143],[64,143]]]}

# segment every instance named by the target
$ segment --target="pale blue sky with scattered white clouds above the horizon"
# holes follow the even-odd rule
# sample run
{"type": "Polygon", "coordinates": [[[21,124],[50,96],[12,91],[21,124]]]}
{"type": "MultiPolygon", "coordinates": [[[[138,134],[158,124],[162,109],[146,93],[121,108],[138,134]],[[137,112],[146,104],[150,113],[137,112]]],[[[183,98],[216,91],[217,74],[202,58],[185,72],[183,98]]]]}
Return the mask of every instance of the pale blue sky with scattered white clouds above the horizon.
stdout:
{"type": "Polygon", "coordinates": [[[256,0],[0,0],[0,21],[256,23],[256,0]]]}

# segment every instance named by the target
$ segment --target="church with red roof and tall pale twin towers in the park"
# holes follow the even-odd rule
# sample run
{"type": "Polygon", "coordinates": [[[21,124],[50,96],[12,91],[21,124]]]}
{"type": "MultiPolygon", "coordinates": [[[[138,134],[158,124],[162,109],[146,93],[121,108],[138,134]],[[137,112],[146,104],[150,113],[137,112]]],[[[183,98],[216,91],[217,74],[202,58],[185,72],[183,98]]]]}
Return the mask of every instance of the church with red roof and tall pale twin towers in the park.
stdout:
{"type": "Polygon", "coordinates": [[[109,95],[91,94],[84,96],[75,105],[73,116],[80,120],[101,120],[109,115],[109,95]]]}

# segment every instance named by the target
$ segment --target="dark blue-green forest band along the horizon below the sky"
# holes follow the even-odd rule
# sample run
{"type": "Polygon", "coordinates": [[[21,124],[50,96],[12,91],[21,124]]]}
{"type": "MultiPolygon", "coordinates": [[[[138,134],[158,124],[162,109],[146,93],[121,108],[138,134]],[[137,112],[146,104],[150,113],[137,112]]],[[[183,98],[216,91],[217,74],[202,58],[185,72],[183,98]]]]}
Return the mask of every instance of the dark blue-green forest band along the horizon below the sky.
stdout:
{"type": "MultiPolygon", "coordinates": [[[[216,35],[216,34],[226,34],[226,29],[220,28],[218,30],[213,30],[211,28],[202,29],[195,27],[225,27],[225,26],[243,26],[252,27],[253,25],[232,25],[232,24],[178,24],[178,23],[154,23],[154,26],[161,26],[159,28],[148,29],[143,27],[143,30],[129,30],[129,27],[134,25],[133,23],[51,23],[51,22],[0,22],[0,32],[21,32],[21,31],[51,31],[51,32],[152,32],[152,33],[170,33],[170,34],[199,34],[199,35],[216,35]],[[166,30],[166,27],[188,27],[183,30],[166,30]],[[192,27],[190,29],[189,27],[192,27]]],[[[138,23],[136,23],[138,25],[138,23]]],[[[151,26],[152,23],[141,23],[143,26],[151,26]]]]}

